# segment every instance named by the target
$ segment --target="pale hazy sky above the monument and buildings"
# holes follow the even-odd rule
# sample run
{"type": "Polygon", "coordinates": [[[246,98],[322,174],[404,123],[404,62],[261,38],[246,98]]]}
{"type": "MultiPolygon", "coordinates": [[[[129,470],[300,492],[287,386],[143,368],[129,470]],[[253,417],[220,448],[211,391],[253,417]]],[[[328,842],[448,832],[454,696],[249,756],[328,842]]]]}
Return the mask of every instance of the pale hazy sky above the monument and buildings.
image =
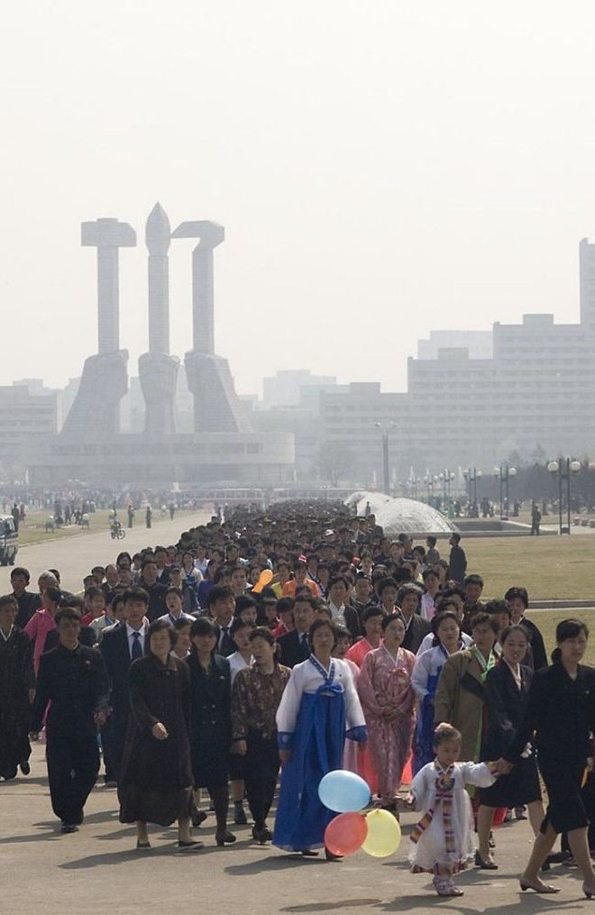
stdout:
{"type": "MultiPolygon", "coordinates": [[[[0,39],[0,382],[96,351],[80,223],[130,222],[121,346],[147,346],[146,215],[222,222],[216,348],[404,390],[431,328],[579,315],[595,238],[595,5],[18,0],[0,39]]],[[[191,345],[172,242],[172,351],[191,345]]]]}

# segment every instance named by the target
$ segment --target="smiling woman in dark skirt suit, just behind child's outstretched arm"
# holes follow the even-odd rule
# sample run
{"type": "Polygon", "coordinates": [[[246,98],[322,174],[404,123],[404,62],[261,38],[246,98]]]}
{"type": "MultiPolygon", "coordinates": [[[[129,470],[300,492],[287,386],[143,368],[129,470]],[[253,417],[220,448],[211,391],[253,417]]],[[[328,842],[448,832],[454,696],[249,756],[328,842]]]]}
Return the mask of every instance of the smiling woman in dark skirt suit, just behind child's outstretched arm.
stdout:
{"type": "MultiPolygon", "coordinates": [[[[523,626],[507,626],[500,636],[502,659],[489,671],[485,681],[488,725],[481,743],[481,761],[500,759],[510,748],[520,727],[529,697],[533,671],[525,660],[529,636],[523,626]]],[[[480,809],[477,817],[479,850],[475,864],[485,870],[498,865],[490,854],[490,830],[497,807],[528,806],[529,819],[535,834],[544,819],[541,803],[536,757],[525,750],[510,775],[503,775],[491,788],[480,789],[480,809]]]]}

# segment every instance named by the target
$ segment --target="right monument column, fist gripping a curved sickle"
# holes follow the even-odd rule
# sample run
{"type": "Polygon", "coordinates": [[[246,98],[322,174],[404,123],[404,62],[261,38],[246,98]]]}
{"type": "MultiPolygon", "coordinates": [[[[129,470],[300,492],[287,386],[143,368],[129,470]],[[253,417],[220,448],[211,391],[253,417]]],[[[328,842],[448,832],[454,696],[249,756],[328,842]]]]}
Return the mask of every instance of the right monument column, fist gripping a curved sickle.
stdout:
{"type": "Polygon", "coordinates": [[[194,395],[195,432],[251,432],[226,359],[215,355],[213,250],[225,238],[217,222],[182,222],[172,238],[198,238],[192,252],[192,344],[184,365],[194,395]]]}

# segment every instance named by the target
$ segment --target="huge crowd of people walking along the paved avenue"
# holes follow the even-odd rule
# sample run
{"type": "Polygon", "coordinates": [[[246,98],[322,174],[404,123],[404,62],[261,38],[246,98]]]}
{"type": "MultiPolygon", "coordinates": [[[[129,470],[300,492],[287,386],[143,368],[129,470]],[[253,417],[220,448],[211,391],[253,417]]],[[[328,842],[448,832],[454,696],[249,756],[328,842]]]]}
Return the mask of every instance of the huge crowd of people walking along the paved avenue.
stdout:
{"type": "Polygon", "coordinates": [[[334,860],[318,786],[347,769],[395,817],[422,813],[409,860],[439,895],[460,895],[464,867],[496,870],[492,826],[527,816],[521,888],[556,892],[541,873],[566,856],[595,895],[589,632],[560,623],[548,664],[525,588],[512,578],[483,602],[459,534],[441,555],[436,537],[391,539],[341,506],[238,508],[94,566],[80,594],[57,569],[30,590],[15,567],[11,584],[0,777],[26,776],[31,741],[45,740],[63,833],[83,822],[103,760],[139,850],[151,823],[177,823],[180,852],[200,850],[208,795],[217,845],[235,842],[247,804],[256,842],[334,860]]]}

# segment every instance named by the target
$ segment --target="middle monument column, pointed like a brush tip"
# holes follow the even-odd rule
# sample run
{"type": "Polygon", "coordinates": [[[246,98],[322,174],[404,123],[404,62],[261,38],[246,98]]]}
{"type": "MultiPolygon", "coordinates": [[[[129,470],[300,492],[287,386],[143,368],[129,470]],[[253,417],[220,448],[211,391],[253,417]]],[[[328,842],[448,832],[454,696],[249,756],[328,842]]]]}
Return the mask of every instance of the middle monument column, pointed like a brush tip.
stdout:
{"type": "Polygon", "coordinates": [[[146,221],[148,248],[149,351],[138,360],[138,376],[145,398],[145,432],[175,432],[174,402],[179,359],[169,355],[169,220],[156,203],[146,221]]]}

